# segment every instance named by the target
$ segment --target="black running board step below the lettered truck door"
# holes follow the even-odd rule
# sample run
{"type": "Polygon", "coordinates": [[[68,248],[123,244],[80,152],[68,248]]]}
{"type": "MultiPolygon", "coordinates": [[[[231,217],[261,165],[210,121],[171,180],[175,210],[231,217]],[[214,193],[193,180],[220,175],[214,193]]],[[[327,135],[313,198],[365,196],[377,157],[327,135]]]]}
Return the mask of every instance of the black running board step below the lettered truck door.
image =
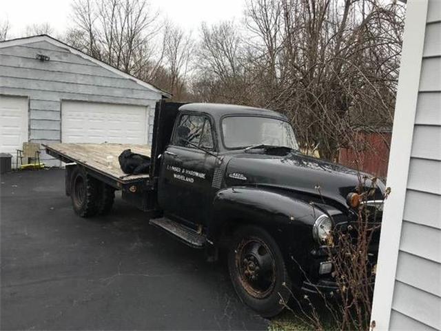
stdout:
{"type": "Polygon", "coordinates": [[[181,223],[167,219],[167,217],[150,219],[149,223],[173,234],[193,248],[203,248],[205,245],[206,237],[203,234],[198,234],[196,231],[187,228],[181,223]]]}

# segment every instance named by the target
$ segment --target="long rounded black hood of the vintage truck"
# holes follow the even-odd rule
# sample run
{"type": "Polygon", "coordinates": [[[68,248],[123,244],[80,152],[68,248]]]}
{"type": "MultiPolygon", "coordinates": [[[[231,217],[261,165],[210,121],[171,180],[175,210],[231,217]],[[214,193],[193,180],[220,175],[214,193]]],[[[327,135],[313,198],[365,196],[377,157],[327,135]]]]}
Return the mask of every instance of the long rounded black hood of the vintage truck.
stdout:
{"type": "MultiPolygon", "coordinates": [[[[227,165],[226,180],[230,185],[267,185],[336,201],[347,208],[346,197],[362,183],[373,188],[372,176],[343,165],[307,157],[300,152],[283,156],[254,152],[236,154],[227,165]]],[[[372,199],[383,199],[384,185],[372,199]]]]}

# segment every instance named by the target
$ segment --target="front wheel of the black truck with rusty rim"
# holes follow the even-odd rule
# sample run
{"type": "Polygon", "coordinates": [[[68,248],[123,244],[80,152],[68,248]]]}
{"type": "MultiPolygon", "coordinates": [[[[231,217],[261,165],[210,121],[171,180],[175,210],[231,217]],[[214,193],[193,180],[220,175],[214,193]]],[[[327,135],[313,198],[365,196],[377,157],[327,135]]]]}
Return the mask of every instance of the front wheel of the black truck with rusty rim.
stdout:
{"type": "Polygon", "coordinates": [[[274,317],[285,308],[291,280],[280,248],[267,231],[252,225],[238,229],[228,267],[240,300],[262,317],[274,317]]]}

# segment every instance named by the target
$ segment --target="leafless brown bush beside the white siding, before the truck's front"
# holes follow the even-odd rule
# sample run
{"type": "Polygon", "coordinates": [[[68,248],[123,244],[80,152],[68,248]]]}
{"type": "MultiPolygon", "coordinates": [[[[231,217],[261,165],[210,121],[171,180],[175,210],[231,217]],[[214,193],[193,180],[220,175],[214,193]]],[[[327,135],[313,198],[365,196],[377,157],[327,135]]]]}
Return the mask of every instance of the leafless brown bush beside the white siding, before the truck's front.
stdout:
{"type": "MultiPolygon", "coordinates": [[[[325,249],[333,265],[331,278],[336,291],[329,295],[316,287],[317,295],[298,299],[293,293],[295,304],[284,303],[307,328],[367,331],[374,326],[369,321],[382,212],[368,206],[367,201],[375,199],[379,186],[382,186],[379,179],[360,173],[360,208],[352,211],[354,220],[333,220],[336,227],[329,233],[325,249]]],[[[320,188],[317,189],[320,193],[320,188]]],[[[389,192],[387,188],[384,199],[389,192]]],[[[306,272],[304,275],[307,277],[306,272]]]]}

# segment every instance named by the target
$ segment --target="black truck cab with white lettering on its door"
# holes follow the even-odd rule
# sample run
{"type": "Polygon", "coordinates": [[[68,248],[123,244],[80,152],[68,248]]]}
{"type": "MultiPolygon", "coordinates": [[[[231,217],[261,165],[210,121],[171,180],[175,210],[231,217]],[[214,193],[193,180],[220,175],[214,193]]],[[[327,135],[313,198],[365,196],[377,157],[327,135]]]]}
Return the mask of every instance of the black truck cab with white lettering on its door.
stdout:
{"type": "Polygon", "coordinates": [[[230,159],[245,148],[271,143],[298,148],[286,117],[277,112],[209,103],[181,106],[161,155],[160,208],[168,217],[207,228],[218,190],[246,182],[240,174],[226,174],[230,159]]]}

